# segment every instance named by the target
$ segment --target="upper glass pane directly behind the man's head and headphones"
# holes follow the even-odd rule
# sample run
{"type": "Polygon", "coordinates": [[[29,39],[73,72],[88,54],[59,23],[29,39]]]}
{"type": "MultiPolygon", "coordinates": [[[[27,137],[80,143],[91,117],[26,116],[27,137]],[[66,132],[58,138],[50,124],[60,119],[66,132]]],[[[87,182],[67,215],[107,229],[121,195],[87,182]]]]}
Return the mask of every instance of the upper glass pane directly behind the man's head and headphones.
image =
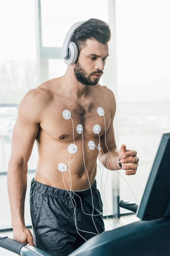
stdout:
{"type": "Polygon", "coordinates": [[[66,4],[65,1],[41,0],[42,46],[62,47],[71,26],[92,17],[108,23],[108,1],[103,4],[103,0],[86,0],[82,8],[79,0],[66,4]]]}

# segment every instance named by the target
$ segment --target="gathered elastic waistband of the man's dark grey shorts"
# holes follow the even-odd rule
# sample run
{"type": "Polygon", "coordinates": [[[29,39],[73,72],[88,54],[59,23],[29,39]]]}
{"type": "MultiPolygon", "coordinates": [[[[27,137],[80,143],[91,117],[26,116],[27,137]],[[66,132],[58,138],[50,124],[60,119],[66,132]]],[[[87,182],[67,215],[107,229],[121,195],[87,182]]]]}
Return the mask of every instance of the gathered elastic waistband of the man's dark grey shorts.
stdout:
{"type": "Polygon", "coordinates": [[[61,196],[62,198],[66,198],[68,196],[70,198],[69,193],[71,193],[71,195],[74,195],[74,193],[76,193],[76,195],[87,197],[87,196],[91,195],[91,191],[93,193],[94,190],[96,190],[96,186],[97,186],[97,183],[96,183],[96,179],[95,179],[94,183],[88,189],[73,190],[70,192],[70,189],[68,189],[68,191],[67,191],[67,189],[59,189],[57,187],[42,184],[42,183],[34,180],[34,178],[31,180],[31,189],[36,190],[44,195],[51,195],[54,197],[61,196]]]}

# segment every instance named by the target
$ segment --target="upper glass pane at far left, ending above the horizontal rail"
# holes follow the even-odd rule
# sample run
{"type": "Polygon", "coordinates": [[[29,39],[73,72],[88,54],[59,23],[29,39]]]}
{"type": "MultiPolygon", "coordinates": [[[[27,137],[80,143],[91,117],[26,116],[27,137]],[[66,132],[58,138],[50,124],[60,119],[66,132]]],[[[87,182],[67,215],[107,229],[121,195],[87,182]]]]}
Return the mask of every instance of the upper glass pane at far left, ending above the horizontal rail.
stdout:
{"type": "Polygon", "coordinates": [[[34,9],[34,1],[1,4],[0,104],[18,104],[28,90],[37,87],[34,9]]]}

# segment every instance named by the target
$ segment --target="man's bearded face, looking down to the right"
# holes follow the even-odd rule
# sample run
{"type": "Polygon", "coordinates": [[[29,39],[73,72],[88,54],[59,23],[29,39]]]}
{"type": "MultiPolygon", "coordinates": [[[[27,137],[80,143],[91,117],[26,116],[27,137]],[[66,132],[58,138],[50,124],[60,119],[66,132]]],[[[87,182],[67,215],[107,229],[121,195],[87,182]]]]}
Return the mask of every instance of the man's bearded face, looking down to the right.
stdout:
{"type": "Polygon", "coordinates": [[[108,44],[101,44],[96,40],[88,39],[87,47],[80,52],[79,59],[74,67],[74,76],[77,81],[85,85],[96,85],[99,82],[108,57],[108,44]],[[94,74],[98,74],[96,77],[94,74]]]}

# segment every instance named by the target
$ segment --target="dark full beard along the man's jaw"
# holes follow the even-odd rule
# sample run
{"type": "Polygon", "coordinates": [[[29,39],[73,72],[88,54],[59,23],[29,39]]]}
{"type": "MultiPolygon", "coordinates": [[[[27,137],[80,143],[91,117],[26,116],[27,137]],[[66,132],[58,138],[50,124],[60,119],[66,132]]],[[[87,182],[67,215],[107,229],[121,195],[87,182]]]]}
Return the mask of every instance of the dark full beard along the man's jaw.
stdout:
{"type": "MultiPolygon", "coordinates": [[[[98,72],[99,73],[99,72],[98,72]]],[[[81,84],[85,85],[96,85],[99,82],[99,78],[94,78],[91,75],[88,75],[87,72],[84,70],[84,68],[81,66],[79,61],[75,64],[74,67],[74,76],[76,77],[77,81],[80,82],[81,84]]]]}

